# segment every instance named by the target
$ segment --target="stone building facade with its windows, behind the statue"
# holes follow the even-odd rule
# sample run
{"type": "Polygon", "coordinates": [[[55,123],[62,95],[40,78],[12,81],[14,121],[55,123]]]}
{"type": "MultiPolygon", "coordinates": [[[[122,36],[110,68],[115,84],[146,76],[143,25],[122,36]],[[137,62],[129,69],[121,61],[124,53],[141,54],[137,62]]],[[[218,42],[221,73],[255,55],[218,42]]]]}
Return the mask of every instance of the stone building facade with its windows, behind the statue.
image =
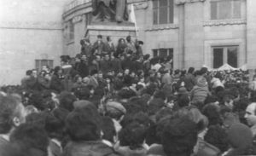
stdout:
{"type": "MultiPolygon", "coordinates": [[[[255,0],[128,0],[135,7],[144,54],[173,55],[174,68],[256,67],[255,0]]],[[[90,0],[68,3],[62,15],[64,53],[79,53],[90,0]]]]}

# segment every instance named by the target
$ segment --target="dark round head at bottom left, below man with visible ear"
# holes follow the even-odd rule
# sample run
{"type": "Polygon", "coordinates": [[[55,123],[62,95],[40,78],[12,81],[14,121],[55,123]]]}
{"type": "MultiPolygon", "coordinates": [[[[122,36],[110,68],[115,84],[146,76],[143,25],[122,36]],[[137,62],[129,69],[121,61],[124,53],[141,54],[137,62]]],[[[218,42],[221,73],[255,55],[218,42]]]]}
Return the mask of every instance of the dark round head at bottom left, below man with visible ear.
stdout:
{"type": "Polygon", "coordinates": [[[10,142],[27,156],[47,156],[47,133],[37,124],[20,124],[10,136],[10,142]]]}

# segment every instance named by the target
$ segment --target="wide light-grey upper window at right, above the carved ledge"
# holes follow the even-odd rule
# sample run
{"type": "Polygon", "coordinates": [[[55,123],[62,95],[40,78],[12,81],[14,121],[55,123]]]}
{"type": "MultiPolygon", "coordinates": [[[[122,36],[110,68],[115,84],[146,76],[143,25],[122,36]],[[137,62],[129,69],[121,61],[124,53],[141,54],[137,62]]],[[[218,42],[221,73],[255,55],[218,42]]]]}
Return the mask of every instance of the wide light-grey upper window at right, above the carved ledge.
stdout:
{"type": "Polygon", "coordinates": [[[241,19],[241,0],[212,0],[211,20],[241,19]]]}

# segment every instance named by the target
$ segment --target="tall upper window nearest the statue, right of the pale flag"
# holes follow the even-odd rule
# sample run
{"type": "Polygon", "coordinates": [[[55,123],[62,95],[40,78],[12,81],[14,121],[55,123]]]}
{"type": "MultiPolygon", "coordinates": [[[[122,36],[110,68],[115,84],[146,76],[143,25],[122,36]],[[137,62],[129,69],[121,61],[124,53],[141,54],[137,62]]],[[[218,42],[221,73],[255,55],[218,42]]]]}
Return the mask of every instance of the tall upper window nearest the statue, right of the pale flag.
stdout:
{"type": "Polygon", "coordinates": [[[173,23],[174,0],[153,0],[153,24],[173,23]]]}

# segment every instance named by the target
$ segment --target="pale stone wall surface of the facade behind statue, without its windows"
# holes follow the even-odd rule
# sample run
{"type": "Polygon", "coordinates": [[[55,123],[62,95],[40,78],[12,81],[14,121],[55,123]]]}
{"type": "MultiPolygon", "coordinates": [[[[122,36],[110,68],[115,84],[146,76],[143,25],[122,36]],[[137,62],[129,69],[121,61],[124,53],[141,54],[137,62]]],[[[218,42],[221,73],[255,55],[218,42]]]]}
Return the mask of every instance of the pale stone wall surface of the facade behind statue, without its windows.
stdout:
{"type": "MultiPolygon", "coordinates": [[[[256,67],[256,1],[241,0],[241,19],[211,20],[212,1],[216,0],[174,0],[173,23],[153,25],[153,0],[128,0],[135,6],[137,38],[145,43],[144,54],[153,55],[153,49],[173,49],[174,68],[213,67],[213,46],[238,45],[238,66],[256,67]]],[[[81,12],[79,6],[71,9],[73,16],[81,12]]],[[[89,13],[90,3],[86,7],[89,13]]],[[[79,39],[86,26],[82,32],[79,30],[75,32],[79,38],[68,49],[73,46],[74,51],[79,51],[79,39]]]]}

